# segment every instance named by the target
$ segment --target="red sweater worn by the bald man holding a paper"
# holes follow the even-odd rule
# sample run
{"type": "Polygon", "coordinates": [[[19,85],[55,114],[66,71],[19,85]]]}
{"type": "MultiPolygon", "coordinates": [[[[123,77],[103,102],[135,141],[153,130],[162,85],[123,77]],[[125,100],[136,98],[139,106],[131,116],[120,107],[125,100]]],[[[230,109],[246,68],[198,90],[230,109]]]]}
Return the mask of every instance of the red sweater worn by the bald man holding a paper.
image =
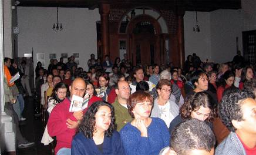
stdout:
{"type": "MultiPolygon", "coordinates": [[[[73,116],[73,112],[69,112],[69,106],[70,100],[66,98],[53,108],[49,116],[47,123],[48,133],[51,137],[56,136],[57,139],[55,154],[62,147],[71,148],[71,142],[76,133],[76,129],[69,129],[66,124],[67,119],[78,121],[73,116]]],[[[85,110],[83,113],[85,113],[85,110]]]]}

